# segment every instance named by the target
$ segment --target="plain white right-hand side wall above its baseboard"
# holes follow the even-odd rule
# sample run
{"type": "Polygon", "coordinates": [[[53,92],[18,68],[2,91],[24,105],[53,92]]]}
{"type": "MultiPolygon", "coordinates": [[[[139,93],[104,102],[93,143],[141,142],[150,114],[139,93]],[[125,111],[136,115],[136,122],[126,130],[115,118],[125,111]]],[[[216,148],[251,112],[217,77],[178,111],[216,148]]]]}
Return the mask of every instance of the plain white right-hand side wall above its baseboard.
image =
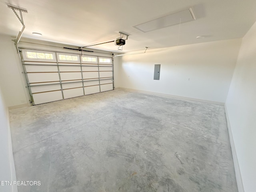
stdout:
{"type": "MultiPolygon", "coordinates": [[[[245,192],[256,190],[256,23],[242,39],[226,110],[245,192]]],[[[241,190],[242,191],[242,190],[241,190]]]]}

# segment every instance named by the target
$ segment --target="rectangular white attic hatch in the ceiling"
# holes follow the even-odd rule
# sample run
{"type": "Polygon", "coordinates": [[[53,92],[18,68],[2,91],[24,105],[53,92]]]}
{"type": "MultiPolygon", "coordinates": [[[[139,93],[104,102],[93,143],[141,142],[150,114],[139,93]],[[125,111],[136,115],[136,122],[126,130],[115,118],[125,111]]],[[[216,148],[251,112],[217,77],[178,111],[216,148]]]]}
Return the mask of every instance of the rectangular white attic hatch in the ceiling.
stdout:
{"type": "Polygon", "coordinates": [[[192,8],[188,8],[186,10],[176,12],[158,19],[154,19],[139,25],[134,26],[134,28],[142,31],[149,32],[173,25],[177,25],[180,23],[189,22],[192,20],[196,20],[194,13],[192,12],[192,8]]]}

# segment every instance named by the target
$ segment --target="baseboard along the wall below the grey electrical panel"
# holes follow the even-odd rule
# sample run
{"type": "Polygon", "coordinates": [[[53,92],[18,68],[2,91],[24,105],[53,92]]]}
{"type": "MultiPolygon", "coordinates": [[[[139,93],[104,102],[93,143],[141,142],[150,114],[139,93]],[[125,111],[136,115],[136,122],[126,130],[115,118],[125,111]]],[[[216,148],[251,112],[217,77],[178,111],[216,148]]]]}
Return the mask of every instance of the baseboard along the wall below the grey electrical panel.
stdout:
{"type": "Polygon", "coordinates": [[[172,97],[172,98],[177,98],[177,99],[184,99],[184,100],[190,100],[190,101],[210,103],[210,104],[216,104],[216,105],[222,105],[222,106],[224,106],[224,104],[225,104],[223,102],[203,100],[203,99],[190,98],[190,97],[183,97],[183,96],[170,95],[170,94],[151,92],[151,91],[145,91],[145,90],[138,90],[138,89],[131,89],[131,88],[124,88],[124,87],[116,87],[115,89],[125,89],[125,90],[137,91],[137,92],[142,92],[142,93],[149,93],[149,94],[154,94],[154,95],[161,95],[161,96],[167,96],[167,97],[172,97]]]}

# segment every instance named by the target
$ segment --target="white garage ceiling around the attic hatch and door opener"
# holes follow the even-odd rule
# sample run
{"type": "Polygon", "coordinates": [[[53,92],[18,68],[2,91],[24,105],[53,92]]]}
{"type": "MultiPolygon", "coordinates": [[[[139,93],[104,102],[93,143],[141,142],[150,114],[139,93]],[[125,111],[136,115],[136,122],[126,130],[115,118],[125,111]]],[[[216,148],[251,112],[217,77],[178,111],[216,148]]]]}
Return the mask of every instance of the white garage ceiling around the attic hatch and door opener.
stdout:
{"type": "Polygon", "coordinates": [[[22,37],[80,47],[129,34],[123,51],[114,43],[91,47],[113,52],[241,38],[256,21],[256,0],[0,0],[0,33],[10,36],[22,24],[6,3],[28,10],[22,37]],[[146,33],[133,27],[190,7],[196,20],[180,26],[146,33]]]}

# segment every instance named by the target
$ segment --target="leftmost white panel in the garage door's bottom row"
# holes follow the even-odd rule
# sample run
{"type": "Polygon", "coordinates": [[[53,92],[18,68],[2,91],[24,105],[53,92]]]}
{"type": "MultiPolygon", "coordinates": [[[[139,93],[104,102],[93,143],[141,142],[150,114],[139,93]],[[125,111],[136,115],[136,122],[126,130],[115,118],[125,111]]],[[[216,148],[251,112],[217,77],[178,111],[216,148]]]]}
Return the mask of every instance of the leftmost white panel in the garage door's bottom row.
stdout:
{"type": "Polygon", "coordinates": [[[42,104],[48,103],[52,101],[62,100],[62,92],[61,91],[52,91],[45,93],[33,94],[34,104],[42,104]]]}

